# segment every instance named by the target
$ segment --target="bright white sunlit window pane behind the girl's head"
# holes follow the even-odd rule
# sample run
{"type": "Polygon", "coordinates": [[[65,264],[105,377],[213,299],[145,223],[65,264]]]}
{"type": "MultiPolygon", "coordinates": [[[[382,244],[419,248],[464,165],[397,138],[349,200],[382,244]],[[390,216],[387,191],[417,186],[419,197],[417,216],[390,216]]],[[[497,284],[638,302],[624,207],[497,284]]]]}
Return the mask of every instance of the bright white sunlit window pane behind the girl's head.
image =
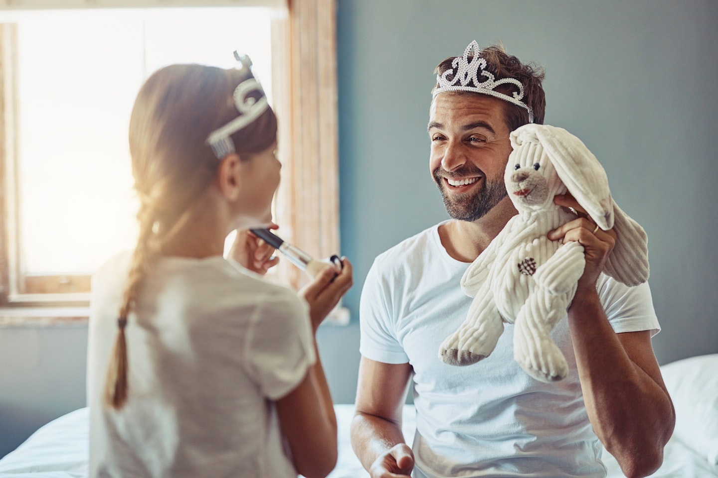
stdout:
{"type": "Polygon", "coordinates": [[[15,12],[0,21],[17,24],[21,274],[87,274],[134,247],[127,130],[151,72],[233,67],[237,49],[271,95],[268,9],[15,12]]]}

